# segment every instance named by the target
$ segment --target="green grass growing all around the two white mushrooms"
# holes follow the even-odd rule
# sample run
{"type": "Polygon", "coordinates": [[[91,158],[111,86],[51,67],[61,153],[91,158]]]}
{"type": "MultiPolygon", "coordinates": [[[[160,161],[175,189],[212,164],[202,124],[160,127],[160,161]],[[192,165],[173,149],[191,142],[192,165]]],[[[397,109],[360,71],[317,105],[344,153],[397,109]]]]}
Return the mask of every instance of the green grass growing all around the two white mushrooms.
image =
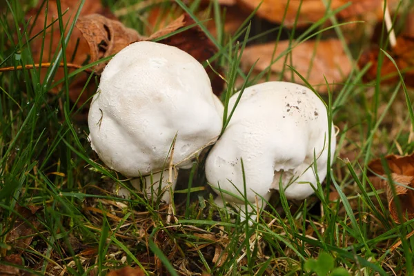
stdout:
{"type": "MultiPolygon", "coordinates": [[[[0,67],[33,64],[27,41],[35,34],[30,34],[23,17],[34,2],[10,0],[0,8],[0,67]]],[[[188,8],[183,1],[176,2],[175,9],[181,7],[202,21],[197,18],[197,3],[188,8]]],[[[106,3],[116,12],[136,1],[106,3]]],[[[253,76],[239,68],[239,50],[269,30],[256,26],[253,32],[246,20],[228,37],[223,32],[225,14],[217,4],[210,10],[216,14],[219,31],[217,38],[207,35],[219,49],[213,59],[225,68],[229,86],[222,99],[228,103],[236,79],[249,86],[270,74],[265,70],[253,76]]],[[[71,30],[73,24],[66,26],[61,20],[64,12],[59,11],[59,28],[71,30]]],[[[336,35],[355,64],[367,39],[348,46],[335,12],[328,12],[304,32],[270,31],[277,39],[282,38],[282,31],[289,32],[287,39],[296,41],[336,35]],[[333,26],[326,28],[328,21],[333,26]]],[[[120,20],[144,31],[144,14],[135,10],[120,20]]],[[[365,23],[358,24],[365,28],[365,23]]],[[[61,37],[63,45],[68,39],[61,37]]],[[[282,58],[289,64],[289,55],[287,51],[273,60],[282,58]]],[[[66,64],[70,57],[57,49],[53,60],[66,64]]],[[[315,262],[309,260],[326,252],[333,257],[335,268],[345,268],[351,275],[413,275],[414,239],[406,238],[414,230],[413,221],[393,223],[387,205],[371,190],[366,177],[371,159],[413,151],[413,91],[404,85],[403,75],[402,82],[394,86],[380,85],[377,80],[362,83],[364,69],[355,66],[341,88],[322,95],[330,119],[339,127],[337,150],[331,152],[335,162],[326,181],[305,201],[275,195],[259,221],[249,226],[237,214],[213,204],[202,159],[187,179],[181,179],[181,191],[175,195],[177,221],[167,224],[168,206],[146,201],[91,150],[88,126],[77,119],[89,101],[79,110],[68,96],[69,83],[80,70],[69,72],[64,67],[65,77],[52,83],[57,69],[50,67],[44,75],[26,69],[0,73],[0,264],[8,263],[8,255],[18,254],[23,265],[14,266],[34,275],[60,275],[63,270],[65,275],[106,275],[111,268],[126,265],[141,267],[146,275],[311,275],[305,268],[315,262]],[[52,94],[49,91],[56,83],[63,86],[52,94]],[[132,199],[115,197],[114,185],[130,189],[132,199]],[[335,190],[339,199],[330,201],[335,190]],[[22,212],[19,206],[40,208],[31,213],[22,212]],[[25,231],[10,239],[20,224],[25,231]],[[397,242],[401,245],[391,248],[397,242]]],[[[233,111],[226,108],[225,112],[233,111]]]]}

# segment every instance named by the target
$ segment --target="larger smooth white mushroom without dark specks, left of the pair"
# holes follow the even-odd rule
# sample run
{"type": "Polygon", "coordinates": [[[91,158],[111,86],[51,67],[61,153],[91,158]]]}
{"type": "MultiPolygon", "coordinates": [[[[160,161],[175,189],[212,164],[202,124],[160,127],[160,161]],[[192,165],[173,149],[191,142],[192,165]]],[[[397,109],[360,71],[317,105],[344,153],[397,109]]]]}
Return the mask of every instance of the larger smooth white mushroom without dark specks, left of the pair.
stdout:
{"type": "MultiPolygon", "coordinates": [[[[88,115],[90,145],[106,166],[126,177],[146,176],[148,182],[152,173],[157,186],[147,186],[151,196],[159,181],[161,188],[168,185],[175,135],[172,164],[188,166],[217,139],[222,111],[196,59],[161,43],[132,43],[102,72],[88,115]]],[[[168,194],[162,199],[168,202],[168,194]]]]}

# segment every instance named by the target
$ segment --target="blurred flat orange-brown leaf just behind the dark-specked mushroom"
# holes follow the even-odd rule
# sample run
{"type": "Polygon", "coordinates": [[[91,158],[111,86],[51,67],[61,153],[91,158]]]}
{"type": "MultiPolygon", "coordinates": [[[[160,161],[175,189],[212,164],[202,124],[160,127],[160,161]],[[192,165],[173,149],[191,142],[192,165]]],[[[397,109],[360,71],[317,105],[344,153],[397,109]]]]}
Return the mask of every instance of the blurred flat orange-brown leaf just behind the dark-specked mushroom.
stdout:
{"type": "MultiPolygon", "coordinates": [[[[246,47],[243,52],[242,66],[245,70],[250,70],[253,63],[259,59],[255,70],[262,72],[270,65],[272,57],[276,59],[279,55],[282,55],[289,48],[289,45],[289,41],[279,41],[274,55],[275,43],[246,47]]],[[[295,41],[292,41],[292,45],[295,45],[295,41]]],[[[283,56],[273,63],[270,66],[271,72],[280,74],[285,62],[293,66],[319,92],[328,90],[324,77],[326,77],[328,83],[333,84],[330,86],[333,90],[336,86],[335,83],[342,82],[352,69],[351,61],[346,56],[342,43],[337,39],[300,43],[293,48],[286,61],[285,56],[283,56]],[[292,63],[290,63],[290,57],[292,63]]],[[[292,74],[294,82],[304,83],[295,72],[285,66],[284,79],[291,81],[292,74]]]]}

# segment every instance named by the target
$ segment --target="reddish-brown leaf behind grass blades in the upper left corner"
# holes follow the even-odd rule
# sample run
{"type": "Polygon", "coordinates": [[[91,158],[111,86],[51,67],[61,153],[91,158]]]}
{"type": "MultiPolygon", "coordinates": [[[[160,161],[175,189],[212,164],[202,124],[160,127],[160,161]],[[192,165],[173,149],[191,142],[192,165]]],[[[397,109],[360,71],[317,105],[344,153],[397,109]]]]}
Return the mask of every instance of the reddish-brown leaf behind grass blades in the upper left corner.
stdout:
{"type": "MultiPolygon", "coordinates": [[[[61,0],[61,12],[63,26],[70,26],[73,22],[75,13],[79,6],[79,1],[72,0],[61,0]]],[[[104,8],[101,5],[101,1],[92,1],[86,0],[83,4],[83,8],[80,12],[80,17],[87,14],[102,14],[108,19],[115,19],[115,16],[110,12],[108,8],[104,8]]],[[[26,13],[26,20],[30,20],[30,26],[28,30],[32,29],[31,35],[34,36],[39,34],[30,42],[30,50],[32,50],[32,57],[34,63],[48,63],[52,60],[53,55],[57,51],[59,44],[61,42],[61,32],[59,30],[59,21],[57,3],[56,0],[49,0],[47,2],[39,1],[37,7],[26,13]],[[43,4],[44,3],[44,4],[43,4]],[[46,10],[47,8],[47,10],[46,10]],[[47,20],[44,14],[47,14],[47,20]],[[39,14],[39,17],[36,16],[39,14]],[[49,26],[44,33],[44,47],[43,44],[43,29],[45,26],[49,26]]],[[[65,32],[65,35],[67,32],[65,32]]],[[[77,65],[82,65],[90,61],[90,48],[88,41],[83,38],[81,31],[77,28],[73,29],[72,35],[66,46],[66,57],[69,63],[75,63],[77,65]]],[[[69,70],[72,72],[73,70],[69,70]]],[[[41,70],[41,78],[46,76],[48,69],[41,70]]],[[[55,75],[55,80],[63,79],[64,70],[63,68],[58,68],[55,75]]],[[[71,80],[70,83],[70,99],[75,102],[81,91],[83,90],[86,80],[88,79],[89,74],[87,72],[82,72],[78,74],[71,80]]],[[[61,86],[58,86],[51,92],[59,92],[61,86]]],[[[81,100],[78,105],[88,99],[92,93],[96,91],[96,85],[94,81],[90,81],[90,85],[86,87],[86,90],[83,92],[81,100]]]]}

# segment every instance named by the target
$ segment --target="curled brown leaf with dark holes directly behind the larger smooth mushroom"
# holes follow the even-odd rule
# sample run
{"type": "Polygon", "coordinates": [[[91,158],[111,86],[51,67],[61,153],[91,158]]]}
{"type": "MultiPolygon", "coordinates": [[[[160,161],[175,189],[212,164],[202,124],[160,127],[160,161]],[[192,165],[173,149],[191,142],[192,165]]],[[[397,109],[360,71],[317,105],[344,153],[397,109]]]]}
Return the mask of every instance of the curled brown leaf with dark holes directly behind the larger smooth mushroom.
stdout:
{"type": "MultiPolygon", "coordinates": [[[[115,20],[107,19],[99,14],[90,14],[86,17],[79,18],[76,27],[83,34],[83,38],[88,41],[90,47],[90,62],[97,61],[103,57],[114,55],[130,43],[136,41],[152,41],[160,39],[172,32],[193,25],[195,21],[188,14],[172,21],[166,28],[155,32],[148,38],[141,37],[136,30],[126,28],[122,23],[115,20]]],[[[204,62],[215,55],[217,47],[204,32],[195,26],[183,32],[179,32],[165,39],[158,41],[170,46],[175,46],[184,52],[192,55],[197,61],[204,62]],[[198,47],[195,47],[197,45],[198,47]]],[[[106,63],[97,65],[97,72],[105,67],[106,63]]],[[[207,68],[207,72],[210,68],[207,68]]],[[[213,74],[209,74],[214,77],[213,74]]],[[[215,91],[222,90],[223,83],[221,79],[212,79],[212,86],[215,91]],[[218,84],[218,85],[217,85],[218,84]]]]}

